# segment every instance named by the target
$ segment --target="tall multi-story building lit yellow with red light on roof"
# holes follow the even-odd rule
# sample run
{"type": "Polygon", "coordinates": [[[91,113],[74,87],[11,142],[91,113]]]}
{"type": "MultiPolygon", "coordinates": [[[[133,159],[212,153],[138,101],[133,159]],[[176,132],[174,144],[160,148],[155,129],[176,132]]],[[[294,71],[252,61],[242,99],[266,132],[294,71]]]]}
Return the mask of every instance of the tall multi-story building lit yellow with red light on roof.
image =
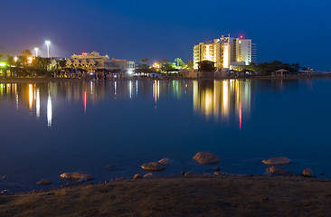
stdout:
{"type": "Polygon", "coordinates": [[[194,69],[199,61],[214,61],[217,69],[232,69],[239,65],[256,62],[256,44],[251,39],[232,38],[222,35],[213,42],[200,42],[194,45],[194,69]]]}

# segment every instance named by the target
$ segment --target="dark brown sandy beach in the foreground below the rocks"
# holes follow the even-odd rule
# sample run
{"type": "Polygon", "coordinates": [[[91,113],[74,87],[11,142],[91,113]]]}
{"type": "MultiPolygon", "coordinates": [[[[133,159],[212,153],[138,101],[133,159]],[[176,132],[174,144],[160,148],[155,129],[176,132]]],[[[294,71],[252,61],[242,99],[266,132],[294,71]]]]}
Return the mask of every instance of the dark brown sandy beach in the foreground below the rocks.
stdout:
{"type": "Polygon", "coordinates": [[[0,196],[0,216],[330,216],[331,181],[195,176],[0,196]]]}

